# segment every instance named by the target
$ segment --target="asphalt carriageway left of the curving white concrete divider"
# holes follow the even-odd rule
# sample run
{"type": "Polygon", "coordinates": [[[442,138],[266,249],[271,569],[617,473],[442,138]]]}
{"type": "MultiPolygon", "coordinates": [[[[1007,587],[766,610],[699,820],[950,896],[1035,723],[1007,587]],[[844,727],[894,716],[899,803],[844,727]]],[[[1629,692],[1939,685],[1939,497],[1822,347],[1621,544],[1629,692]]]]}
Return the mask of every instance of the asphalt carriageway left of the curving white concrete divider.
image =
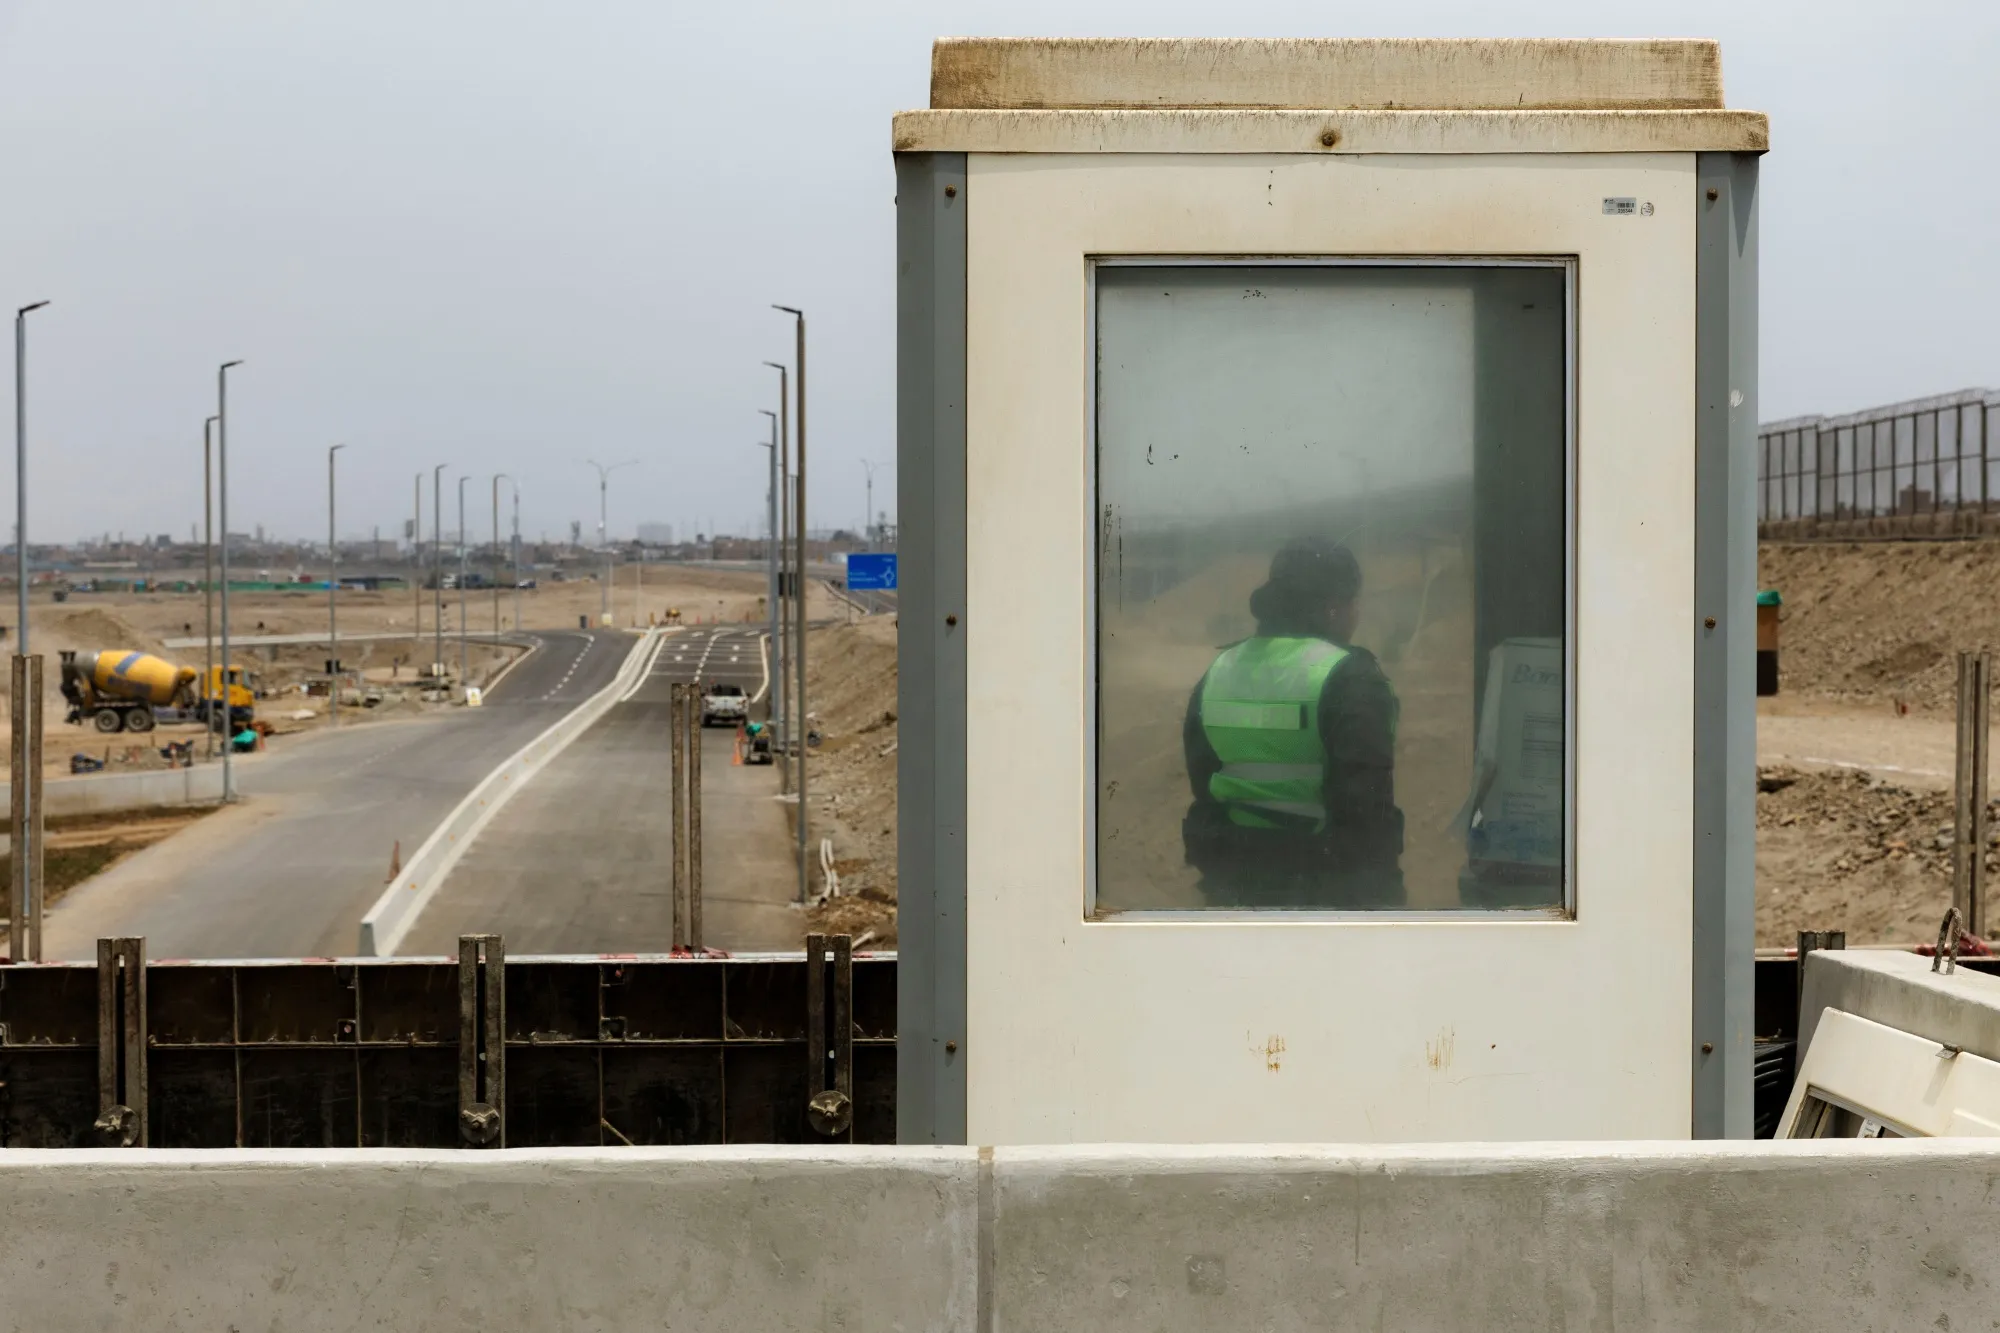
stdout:
{"type": "Polygon", "coordinates": [[[630,634],[552,630],[486,697],[410,721],[278,739],[236,767],[242,805],[150,847],[48,911],[48,957],[142,935],[156,959],[352,955],[388,879],[480,779],[604,689],[630,634]]]}

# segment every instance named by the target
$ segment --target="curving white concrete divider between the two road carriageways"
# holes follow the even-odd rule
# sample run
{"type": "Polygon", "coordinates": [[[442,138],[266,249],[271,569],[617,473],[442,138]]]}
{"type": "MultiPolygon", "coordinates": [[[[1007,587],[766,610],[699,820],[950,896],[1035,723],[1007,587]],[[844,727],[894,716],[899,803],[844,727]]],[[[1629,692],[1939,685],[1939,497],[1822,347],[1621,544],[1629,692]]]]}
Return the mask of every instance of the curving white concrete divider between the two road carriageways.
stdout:
{"type": "Polygon", "coordinates": [[[638,642],[632,644],[632,652],[626,654],[624,664],[612,683],[602,691],[586,699],[582,705],[572,709],[560,721],[556,721],[548,731],[520,747],[502,763],[498,769],[486,775],[486,779],[458,803],[438,829],[424,839],[424,845],[416,849],[404,865],[402,875],[396,877],[368,915],[362,917],[360,929],[360,957],[380,959],[396,953],[402,945],[404,935],[416,925],[416,919],[436,897],[438,885],[450,877],[452,867],[458,859],[466,855],[472,841],[480,835],[486,823],[500,811],[508,799],[520,791],[528,779],[542,771],[542,767],[560,755],[576,737],[604,717],[612,705],[616,705],[624,693],[632,687],[638,675],[650,662],[650,652],[658,630],[646,630],[640,634],[638,642]]]}

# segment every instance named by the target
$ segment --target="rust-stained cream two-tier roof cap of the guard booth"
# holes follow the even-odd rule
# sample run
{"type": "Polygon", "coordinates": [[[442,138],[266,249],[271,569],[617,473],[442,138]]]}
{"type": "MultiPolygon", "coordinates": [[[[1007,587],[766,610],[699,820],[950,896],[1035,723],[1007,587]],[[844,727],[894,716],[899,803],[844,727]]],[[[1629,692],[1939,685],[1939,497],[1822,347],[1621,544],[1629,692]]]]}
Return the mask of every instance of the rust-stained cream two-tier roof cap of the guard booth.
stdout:
{"type": "Polygon", "coordinates": [[[1724,108],[1708,40],[940,38],[894,146],[1764,152],[1768,122],[1724,108]]]}

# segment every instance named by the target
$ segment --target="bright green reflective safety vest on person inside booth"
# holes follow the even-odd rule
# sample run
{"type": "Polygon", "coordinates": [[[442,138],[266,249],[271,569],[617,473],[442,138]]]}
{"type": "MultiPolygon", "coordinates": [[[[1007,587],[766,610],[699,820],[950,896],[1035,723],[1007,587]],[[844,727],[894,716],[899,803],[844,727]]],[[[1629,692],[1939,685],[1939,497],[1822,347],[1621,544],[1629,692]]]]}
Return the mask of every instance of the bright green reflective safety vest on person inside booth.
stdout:
{"type": "Polygon", "coordinates": [[[1202,733],[1222,761],[1208,795],[1232,825],[1326,827],[1320,691],[1346,656],[1324,638],[1246,638],[1202,677],[1202,733]]]}

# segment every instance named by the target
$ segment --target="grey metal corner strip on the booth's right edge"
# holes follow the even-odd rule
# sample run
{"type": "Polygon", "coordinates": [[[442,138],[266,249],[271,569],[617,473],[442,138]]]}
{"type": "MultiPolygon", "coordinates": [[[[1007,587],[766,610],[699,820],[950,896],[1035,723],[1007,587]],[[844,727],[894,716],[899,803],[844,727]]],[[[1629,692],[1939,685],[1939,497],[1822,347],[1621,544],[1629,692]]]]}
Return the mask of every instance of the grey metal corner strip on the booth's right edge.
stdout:
{"type": "Polygon", "coordinates": [[[1696,1139],[1748,1139],[1756,945],[1756,154],[1696,154],[1696,1139]]]}

